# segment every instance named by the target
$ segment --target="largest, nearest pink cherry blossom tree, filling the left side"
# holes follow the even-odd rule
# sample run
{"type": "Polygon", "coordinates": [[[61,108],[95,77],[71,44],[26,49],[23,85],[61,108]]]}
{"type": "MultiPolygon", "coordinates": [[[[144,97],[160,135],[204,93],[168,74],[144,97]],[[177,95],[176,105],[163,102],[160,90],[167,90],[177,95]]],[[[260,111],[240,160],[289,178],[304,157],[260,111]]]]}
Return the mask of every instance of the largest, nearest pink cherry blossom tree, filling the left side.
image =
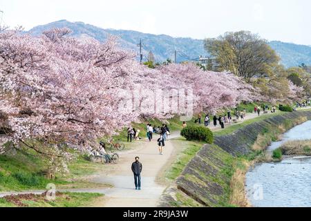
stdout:
{"type": "MultiPolygon", "coordinates": [[[[133,84],[139,64],[132,52],[104,43],[66,37],[54,29],[42,37],[0,34],[0,106],[7,137],[46,154],[29,140],[57,148],[60,142],[95,142],[129,125],[138,115],[119,108],[119,88],[133,84]]],[[[4,128],[4,126],[2,126],[4,128]]],[[[84,144],[84,145],[82,145],[84,144]]]]}

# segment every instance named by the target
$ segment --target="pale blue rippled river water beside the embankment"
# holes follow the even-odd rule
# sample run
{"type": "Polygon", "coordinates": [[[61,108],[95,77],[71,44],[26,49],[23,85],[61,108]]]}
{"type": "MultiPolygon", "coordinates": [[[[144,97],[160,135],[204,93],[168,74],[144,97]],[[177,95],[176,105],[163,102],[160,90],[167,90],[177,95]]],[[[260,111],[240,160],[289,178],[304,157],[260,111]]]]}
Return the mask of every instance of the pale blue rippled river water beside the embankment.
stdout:
{"type": "MultiPolygon", "coordinates": [[[[311,121],[295,126],[272,142],[267,151],[284,142],[311,139],[311,121]]],[[[256,164],[246,174],[247,198],[256,207],[311,206],[311,157],[291,157],[279,163],[256,164]]]]}

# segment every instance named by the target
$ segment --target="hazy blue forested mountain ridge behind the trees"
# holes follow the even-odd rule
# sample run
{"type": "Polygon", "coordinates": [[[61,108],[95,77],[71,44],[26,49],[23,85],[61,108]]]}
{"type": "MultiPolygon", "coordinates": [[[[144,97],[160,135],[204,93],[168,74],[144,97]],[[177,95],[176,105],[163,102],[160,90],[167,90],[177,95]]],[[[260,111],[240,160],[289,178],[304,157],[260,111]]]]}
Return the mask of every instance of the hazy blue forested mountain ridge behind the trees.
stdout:
{"type": "MultiPolygon", "coordinates": [[[[120,37],[120,44],[124,48],[138,52],[137,44],[142,39],[142,54],[147,59],[149,51],[153,52],[156,61],[164,61],[167,58],[173,59],[174,50],[178,51],[177,61],[198,59],[200,55],[208,55],[203,46],[202,39],[191,39],[185,37],[170,37],[168,35],[151,35],[133,30],[103,29],[83,22],[70,22],[66,20],[55,21],[43,26],[36,26],[29,32],[32,35],[41,35],[44,30],[50,28],[67,27],[73,30],[73,37],[93,37],[104,41],[107,35],[120,37]]],[[[282,64],[286,67],[298,66],[301,63],[311,65],[311,47],[296,44],[271,41],[270,46],[281,55],[282,64]]]]}

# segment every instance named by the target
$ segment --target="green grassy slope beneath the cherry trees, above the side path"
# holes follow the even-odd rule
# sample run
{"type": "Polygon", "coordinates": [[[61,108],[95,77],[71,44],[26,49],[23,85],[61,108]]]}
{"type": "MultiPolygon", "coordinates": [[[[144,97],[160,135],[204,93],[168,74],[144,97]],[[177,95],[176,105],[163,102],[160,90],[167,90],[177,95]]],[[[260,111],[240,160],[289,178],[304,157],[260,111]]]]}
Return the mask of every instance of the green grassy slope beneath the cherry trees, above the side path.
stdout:
{"type": "Polygon", "coordinates": [[[57,189],[99,188],[106,184],[95,184],[87,181],[88,175],[101,171],[102,164],[96,164],[79,157],[68,165],[69,173],[56,173],[55,180],[44,176],[46,164],[31,150],[11,151],[0,155],[0,191],[23,191],[46,189],[53,183],[57,189]]]}

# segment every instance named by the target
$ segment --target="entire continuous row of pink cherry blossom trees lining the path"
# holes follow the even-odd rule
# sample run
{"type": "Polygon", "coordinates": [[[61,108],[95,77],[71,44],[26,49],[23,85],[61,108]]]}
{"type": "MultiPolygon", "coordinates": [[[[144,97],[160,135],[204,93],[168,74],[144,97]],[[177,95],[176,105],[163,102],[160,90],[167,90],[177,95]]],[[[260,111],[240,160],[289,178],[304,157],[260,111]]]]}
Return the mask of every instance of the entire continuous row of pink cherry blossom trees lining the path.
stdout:
{"type": "Polygon", "coordinates": [[[27,146],[57,162],[70,158],[65,143],[84,150],[140,117],[167,119],[189,108],[216,111],[254,99],[254,88],[230,73],[195,64],[151,69],[120,48],[116,37],[101,43],[69,33],[0,33],[2,144],[27,146]]]}

